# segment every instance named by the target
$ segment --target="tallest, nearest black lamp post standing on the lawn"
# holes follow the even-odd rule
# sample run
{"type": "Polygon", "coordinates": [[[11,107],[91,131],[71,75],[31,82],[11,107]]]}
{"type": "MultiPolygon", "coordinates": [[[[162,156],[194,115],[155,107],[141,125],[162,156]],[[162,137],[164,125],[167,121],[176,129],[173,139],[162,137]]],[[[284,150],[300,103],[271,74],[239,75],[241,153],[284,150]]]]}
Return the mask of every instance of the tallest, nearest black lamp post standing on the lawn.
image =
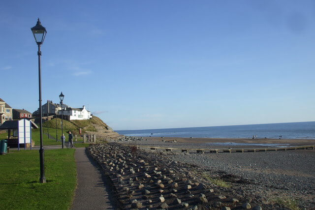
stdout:
{"type": "Polygon", "coordinates": [[[43,27],[39,21],[39,18],[37,20],[36,26],[31,28],[32,33],[34,35],[36,44],[38,46],[38,87],[39,87],[39,127],[40,127],[40,149],[39,149],[39,162],[40,162],[40,178],[39,182],[46,183],[45,178],[45,165],[44,165],[44,148],[43,148],[43,121],[42,121],[42,109],[41,109],[41,66],[40,66],[40,57],[41,57],[41,51],[40,46],[44,42],[45,36],[46,36],[46,29],[43,27]]]}

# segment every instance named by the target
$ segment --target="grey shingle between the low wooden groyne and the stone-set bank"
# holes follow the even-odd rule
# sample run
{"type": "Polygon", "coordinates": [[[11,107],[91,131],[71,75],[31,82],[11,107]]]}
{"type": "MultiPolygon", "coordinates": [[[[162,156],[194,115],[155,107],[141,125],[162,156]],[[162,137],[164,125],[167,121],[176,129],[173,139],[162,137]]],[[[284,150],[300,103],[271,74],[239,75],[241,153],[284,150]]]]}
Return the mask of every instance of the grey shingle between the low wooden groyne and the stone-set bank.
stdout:
{"type": "Polygon", "coordinates": [[[261,195],[265,200],[274,196],[289,197],[300,200],[303,207],[315,208],[315,150],[174,153],[169,158],[198,165],[217,175],[231,174],[248,179],[266,190],[261,195]]]}

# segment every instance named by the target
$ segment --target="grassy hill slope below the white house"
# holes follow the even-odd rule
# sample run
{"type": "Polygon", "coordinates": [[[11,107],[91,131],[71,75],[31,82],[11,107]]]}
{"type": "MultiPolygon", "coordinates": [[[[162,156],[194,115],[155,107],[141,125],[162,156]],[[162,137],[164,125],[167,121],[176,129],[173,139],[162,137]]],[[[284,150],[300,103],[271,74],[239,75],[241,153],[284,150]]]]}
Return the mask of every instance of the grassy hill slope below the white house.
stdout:
{"type": "MultiPolygon", "coordinates": [[[[71,131],[74,134],[79,134],[79,129],[81,128],[82,133],[86,131],[96,132],[95,127],[102,127],[103,129],[109,130],[108,125],[100,120],[99,118],[93,116],[90,120],[63,120],[63,132],[71,131]]],[[[48,120],[43,123],[43,127],[56,128],[56,119],[48,120]]],[[[57,128],[61,128],[61,119],[57,119],[57,128]]]]}

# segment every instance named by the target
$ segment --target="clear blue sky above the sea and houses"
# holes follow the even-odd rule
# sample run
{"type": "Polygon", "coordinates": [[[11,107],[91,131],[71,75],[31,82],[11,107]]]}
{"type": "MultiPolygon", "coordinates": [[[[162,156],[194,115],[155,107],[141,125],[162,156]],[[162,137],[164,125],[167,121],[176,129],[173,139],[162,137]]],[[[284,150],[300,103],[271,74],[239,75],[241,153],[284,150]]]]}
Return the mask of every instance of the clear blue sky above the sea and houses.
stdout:
{"type": "Polygon", "coordinates": [[[0,98],[86,105],[114,129],[315,120],[315,2],[4,1],[0,98]]]}

